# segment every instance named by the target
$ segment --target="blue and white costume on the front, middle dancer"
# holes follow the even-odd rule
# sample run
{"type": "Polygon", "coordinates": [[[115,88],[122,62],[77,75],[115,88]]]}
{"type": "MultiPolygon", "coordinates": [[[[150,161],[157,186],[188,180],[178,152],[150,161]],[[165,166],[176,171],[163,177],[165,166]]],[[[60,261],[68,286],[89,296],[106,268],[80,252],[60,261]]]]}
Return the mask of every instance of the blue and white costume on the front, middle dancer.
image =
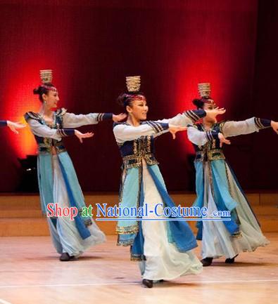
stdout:
{"type": "MultiPolygon", "coordinates": [[[[186,126],[206,116],[203,110],[178,114],[172,119],[144,121],[140,126],[114,124],[115,140],[122,156],[120,204],[138,208],[148,204],[154,210],[157,204],[175,206],[170,198],[154,154],[154,141],[168,132],[169,124],[186,126]]],[[[182,275],[198,274],[203,266],[194,255],[196,239],[187,222],[154,220],[163,218],[149,213],[139,221],[119,218],[116,231],[118,245],[131,246],[131,259],[139,261],[143,279],[175,279],[182,275]]]]}

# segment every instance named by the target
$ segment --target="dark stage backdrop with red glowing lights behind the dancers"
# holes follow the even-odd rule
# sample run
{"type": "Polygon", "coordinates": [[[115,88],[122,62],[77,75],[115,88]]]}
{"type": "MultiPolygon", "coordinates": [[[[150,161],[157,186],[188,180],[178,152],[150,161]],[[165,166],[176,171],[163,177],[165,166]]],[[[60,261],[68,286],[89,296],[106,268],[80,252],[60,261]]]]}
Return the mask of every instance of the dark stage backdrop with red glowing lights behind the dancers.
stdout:
{"type": "MultiPolygon", "coordinates": [[[[198,82],[227,108],[223,119],[278,120],[275,0],[1,1],[0,119],[37,111],[32,89],[52,69],[61,107],[69,112],[121,112],[115,98],[125,76],[141,75],[149,119],[192,108],[198,82]]],[[[118,190],[120,155],[112,123],[82,145],[65,140],[84,191],[118,190]]],[[[18,157],[34,154],[29,131],[0,131],[0,191],[18,189],[18,157]]],[[[272,130],[232,138],[225,154],[245,189],[277,190],[278,137],[272,130]]],[[[193,190],[193,152],[186,133],[156,144],[169,190],[193,190]]]]}

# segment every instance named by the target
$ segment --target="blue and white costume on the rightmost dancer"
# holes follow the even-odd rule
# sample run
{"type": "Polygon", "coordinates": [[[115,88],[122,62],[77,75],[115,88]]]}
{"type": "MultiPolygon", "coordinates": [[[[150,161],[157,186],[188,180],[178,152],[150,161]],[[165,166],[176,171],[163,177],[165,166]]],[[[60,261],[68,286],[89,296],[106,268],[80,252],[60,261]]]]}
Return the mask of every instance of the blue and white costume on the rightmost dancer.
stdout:
{"type": "Polygon", "coordinates": [[[255,214],[225,160],[218,133],[225,138],[258,132],[270,127],[270,120],[251,118],[222,121],[209,131],[202,124],[189,126],[187,135],[194,144],[196,193],[194,206],[213,211],[230,211],[231,221],[198,221],[197,239],[202,240],[202,258],[234,258],[242,251],[255,251],[270,242],[260,230],[255,214]]]}

